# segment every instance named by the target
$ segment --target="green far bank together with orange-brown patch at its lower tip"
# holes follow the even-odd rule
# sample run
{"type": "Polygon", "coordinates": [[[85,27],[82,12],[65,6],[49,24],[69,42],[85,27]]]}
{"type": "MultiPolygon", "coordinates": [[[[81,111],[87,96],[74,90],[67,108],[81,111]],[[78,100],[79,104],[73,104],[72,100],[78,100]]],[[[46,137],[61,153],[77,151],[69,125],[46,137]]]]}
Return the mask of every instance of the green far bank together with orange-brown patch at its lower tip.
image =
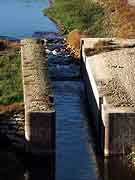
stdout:
{"type": "Polygon", "coordinates": [[[67,46],[76,59],[80,58],[80,38],[102,36],[102,7],[94,1],[71,0],[51,1],[51,6],[43,11],[51,20],[58,24],[64,34],[67,46]]]}

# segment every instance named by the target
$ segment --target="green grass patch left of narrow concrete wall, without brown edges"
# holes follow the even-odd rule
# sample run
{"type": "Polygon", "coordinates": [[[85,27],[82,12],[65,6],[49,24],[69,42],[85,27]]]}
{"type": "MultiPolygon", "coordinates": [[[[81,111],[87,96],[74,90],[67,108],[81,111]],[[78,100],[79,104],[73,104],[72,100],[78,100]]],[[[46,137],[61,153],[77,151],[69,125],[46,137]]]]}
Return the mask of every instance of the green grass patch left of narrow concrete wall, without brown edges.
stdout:
{"type": "Polygon", "coordinates": [[[21,58],[13,51],[0,56],[0,104],[9,105],[22,100],[21,58]]]}

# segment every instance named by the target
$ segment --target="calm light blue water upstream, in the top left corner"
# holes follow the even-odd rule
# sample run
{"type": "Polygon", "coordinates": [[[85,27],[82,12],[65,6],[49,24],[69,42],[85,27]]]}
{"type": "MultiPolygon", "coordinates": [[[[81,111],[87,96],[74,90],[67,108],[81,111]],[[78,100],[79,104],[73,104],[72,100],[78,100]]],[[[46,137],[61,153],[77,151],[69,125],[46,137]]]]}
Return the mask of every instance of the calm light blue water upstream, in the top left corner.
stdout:
{"type": "Polygon", "coordinates": [[[43,16],[42,10],[48,5],[48,0],[1,0],[0,36],[21,38],[38,31],[57,31],[56,25],[43,16]]]}

